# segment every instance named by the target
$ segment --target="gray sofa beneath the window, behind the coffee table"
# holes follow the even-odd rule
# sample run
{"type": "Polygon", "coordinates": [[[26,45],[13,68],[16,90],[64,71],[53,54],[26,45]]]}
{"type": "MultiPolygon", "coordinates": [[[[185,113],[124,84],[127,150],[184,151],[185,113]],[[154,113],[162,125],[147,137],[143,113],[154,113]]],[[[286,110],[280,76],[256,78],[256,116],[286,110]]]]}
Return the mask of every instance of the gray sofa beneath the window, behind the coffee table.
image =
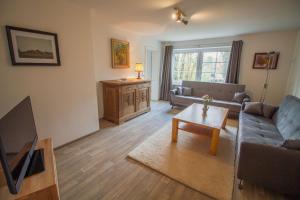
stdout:
{"type": "Polygon", "coordinates": [[[202,103],[201,97],[207,94],[213,97],[212,105],[228,108],[229,117],[237,118],[242,102],[250,101],[249,96],[246,96],[241,102],[232,101],[236,92],[245,91],[245,85],[183,81],[181,87],[191,88],[191,94],[180,95],[175,87],[170,91],[170,104],[172,106],[189,106],[193,103],[202,103]]]}

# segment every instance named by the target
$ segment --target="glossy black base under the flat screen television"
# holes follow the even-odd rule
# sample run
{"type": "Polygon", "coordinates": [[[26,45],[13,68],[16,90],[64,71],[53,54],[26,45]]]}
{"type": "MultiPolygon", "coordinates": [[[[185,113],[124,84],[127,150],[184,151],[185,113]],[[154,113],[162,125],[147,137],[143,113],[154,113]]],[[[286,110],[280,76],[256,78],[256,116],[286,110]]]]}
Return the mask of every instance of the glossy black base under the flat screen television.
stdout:
{"type": "Polygon", "coordinates": [[[30,163],[28,165],[25,177],[43,172],[45,170],[44,164],[44,149],[34,150],[30,163]]]}

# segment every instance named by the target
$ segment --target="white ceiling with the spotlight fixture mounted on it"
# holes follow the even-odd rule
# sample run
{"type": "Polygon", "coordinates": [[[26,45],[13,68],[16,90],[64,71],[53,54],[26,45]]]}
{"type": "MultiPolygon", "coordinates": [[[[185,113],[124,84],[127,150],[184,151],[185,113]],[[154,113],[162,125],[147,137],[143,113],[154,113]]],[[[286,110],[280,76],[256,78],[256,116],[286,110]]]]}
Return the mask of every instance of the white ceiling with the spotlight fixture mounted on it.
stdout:
{"type": "Polygon", "coordinates": [[[300,0],[69,1],[94,8],[116,28],[163,41],[300,28],[300,0]],[[172,20],[175,6],[189,17],[187,26],[172,20]]]}

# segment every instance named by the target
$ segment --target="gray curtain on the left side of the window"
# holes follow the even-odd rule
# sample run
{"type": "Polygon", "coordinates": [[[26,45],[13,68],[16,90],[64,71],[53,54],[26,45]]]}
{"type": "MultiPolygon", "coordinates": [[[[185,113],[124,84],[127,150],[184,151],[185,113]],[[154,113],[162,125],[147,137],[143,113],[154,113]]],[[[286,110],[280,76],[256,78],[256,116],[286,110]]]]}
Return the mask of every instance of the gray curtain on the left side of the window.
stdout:
{"type": "Polygon", "coordinates": [[[172,85],[172,52],[173,46],[165,47],[164,63],[162,67],[160,100],[168,101],[170,99],[170,90],[172,85]]]}

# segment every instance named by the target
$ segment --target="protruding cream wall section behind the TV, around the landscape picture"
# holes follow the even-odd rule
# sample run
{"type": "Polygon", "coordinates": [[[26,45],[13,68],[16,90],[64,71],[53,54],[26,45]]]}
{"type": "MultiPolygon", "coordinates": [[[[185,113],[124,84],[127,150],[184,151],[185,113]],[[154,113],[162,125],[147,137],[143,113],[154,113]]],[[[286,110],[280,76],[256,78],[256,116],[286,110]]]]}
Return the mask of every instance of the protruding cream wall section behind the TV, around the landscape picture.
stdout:
{"type": "Polygon", "coordinates": [[[0,3],[0,117],[30,95],[38,135],[54,146],[98,130],[89,10],[59,0],[0,3]],[[57,33],[62,65],[12,66],[4,25],[57,33]]]}

